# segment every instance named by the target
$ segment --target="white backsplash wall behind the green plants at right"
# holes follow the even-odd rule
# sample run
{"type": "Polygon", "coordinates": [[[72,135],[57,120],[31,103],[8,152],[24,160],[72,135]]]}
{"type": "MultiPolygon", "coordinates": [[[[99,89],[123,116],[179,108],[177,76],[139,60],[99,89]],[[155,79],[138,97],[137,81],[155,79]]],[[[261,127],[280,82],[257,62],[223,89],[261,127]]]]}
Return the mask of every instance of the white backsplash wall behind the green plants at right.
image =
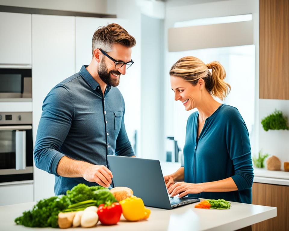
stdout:
{"type": "Polygon", "coordinates": [[[259,149],[263,150],[263,154],[277,156],[281,161],[281,170],[284,170],[284,162],[289,162],[289,130],[264,131],[261,125],[261,120],[275,109],[282,111],[288,121],[289,100],[259,99],[259,149]]]}

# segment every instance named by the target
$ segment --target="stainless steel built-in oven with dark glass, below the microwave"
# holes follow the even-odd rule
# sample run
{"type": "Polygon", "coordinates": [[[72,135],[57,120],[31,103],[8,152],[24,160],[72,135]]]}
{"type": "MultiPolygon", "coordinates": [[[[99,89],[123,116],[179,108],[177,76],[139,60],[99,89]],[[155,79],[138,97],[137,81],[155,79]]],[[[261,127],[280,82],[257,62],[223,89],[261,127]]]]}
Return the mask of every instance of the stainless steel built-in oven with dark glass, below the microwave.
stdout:
{"type": "Polygon", "coordinates": [[[32,112],[0,112],[0,183],[33,180],[32,112]]]}

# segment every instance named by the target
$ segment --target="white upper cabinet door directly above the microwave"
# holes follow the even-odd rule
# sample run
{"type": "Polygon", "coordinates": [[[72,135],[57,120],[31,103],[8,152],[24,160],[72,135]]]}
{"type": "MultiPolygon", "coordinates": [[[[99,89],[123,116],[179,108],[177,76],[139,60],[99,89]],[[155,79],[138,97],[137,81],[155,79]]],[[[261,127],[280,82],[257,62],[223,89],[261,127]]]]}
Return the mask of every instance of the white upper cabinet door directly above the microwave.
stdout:
{"type": "Polygon", "coordinates": [[[31,64],[31,14],[0,12],[0,64],[31,64]]]}

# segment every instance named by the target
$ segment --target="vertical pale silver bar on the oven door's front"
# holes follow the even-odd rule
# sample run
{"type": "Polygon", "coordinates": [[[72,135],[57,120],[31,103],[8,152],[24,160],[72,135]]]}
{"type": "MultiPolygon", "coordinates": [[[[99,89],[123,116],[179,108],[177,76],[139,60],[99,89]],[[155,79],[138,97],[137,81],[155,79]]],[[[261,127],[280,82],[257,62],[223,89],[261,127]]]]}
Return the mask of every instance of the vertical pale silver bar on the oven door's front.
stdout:
{"type": "Polygon", "coordinates": [[[15,131],[16,170],[26,169],[26,131],[15,131]]]}

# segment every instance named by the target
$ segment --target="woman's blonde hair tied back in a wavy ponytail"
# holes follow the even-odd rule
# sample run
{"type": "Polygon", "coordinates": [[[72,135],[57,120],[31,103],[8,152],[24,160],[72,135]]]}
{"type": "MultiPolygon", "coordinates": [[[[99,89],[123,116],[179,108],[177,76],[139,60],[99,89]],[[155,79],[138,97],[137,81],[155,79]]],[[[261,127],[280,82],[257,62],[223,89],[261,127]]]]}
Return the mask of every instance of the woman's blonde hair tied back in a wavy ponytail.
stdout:
{"type": "Polygon", "coordinates": [[[169,75],[181,77],[196,85],[200,78],[204,79],[205,88],[215,97],[224,100],[231,91],[231,86],[224,81],[226,72],[217,61],[205,64],[202,60],[186,56],[172,65],[169,75]],[[212,69],[212,73],[209,71],[212,69]]]}

